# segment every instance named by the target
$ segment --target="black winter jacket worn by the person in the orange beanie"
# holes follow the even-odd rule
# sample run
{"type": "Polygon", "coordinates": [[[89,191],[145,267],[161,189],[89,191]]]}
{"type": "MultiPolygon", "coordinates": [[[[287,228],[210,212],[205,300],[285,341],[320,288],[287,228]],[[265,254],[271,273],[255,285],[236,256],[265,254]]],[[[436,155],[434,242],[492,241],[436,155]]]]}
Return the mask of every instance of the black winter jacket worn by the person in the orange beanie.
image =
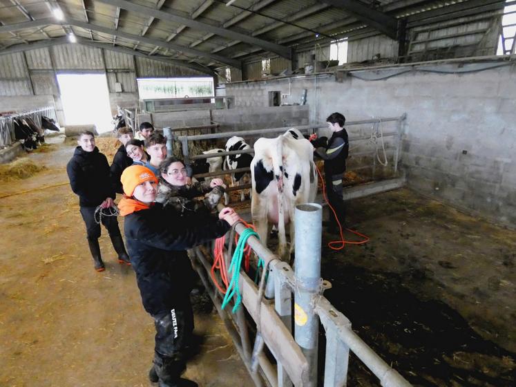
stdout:
{"type": "Polygon", "coordinates": [[[144,308],[151,315],[169,312],[189,294],[193,276],[185,250],[230,229],[225,220],[196,218],[180,218],[160,203],[125,216],[126,246],[144,308]]]}

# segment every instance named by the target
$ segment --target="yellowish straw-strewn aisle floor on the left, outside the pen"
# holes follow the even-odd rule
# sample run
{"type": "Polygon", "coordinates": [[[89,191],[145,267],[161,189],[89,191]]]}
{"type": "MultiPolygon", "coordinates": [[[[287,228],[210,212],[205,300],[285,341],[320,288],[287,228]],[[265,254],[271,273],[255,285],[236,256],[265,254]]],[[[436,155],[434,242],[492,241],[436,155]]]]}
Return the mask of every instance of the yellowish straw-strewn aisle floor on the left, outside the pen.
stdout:
{"type": "MultiPolygon", "coordinates": [[[[0,386],[152,386],[154,326],[133,270],[117,263],[105,229],[106,271],[93,270],[77,196],[59,185],[73,149],[32,154],[48,170],[0,185],[0,197],[26,191],[0,198],[0,386]]],[[[196,314],[195,332],[201,353],[186,377],[251,386],[216,312],[196,314]]]]}

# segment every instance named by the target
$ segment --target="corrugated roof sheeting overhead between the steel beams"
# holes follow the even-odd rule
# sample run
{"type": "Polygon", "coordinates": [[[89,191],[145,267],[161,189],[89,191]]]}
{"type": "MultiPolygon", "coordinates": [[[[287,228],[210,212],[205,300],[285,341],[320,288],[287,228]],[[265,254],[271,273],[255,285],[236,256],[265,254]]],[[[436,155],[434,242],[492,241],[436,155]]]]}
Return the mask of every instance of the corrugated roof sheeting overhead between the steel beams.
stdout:
{"type": "MultiPolygon", "coordinates": [[[[52,14],[46,1],[34,1],[34,0],[18,0],[23,7],[29,12],[30,17],[33,19],[44,19],[52,18],[52,14]]],[[[146,6],[148,8],[156,9],[157,4],[160,3],[158,0],[137,0],[132,1],[133,3],[146,6]]],[[[350,14],[341,8],[335,8],[333,6],[325,6],[323,2],[316,0],[276,0],[267,2],[265,0],[237,0],[232,6],[225,6],[225,1],[222,0],[166,0],[162,2],[163,12],[170,12],[175,15],[182,17],[195,17],[195,21],[205,23],[210,26],[224,26],[224,23],[231,21],[229,30],[236,30],[242,32],[245,35],[256,35],[256,37],[263,39],[264,41],[271,42],[282,42],[283,46],[296,46],[300,43],[316,43],[314,31],[323,33],[325,35],[332,35],[334,37],[344,37],[350,34],[353,28],[349,26],[343,26],[345,23],[355,21],[350,14]],[[262,8],[260,4],[266,4],[262,8]],[[207,5],[204,7],[204,5],[207,5]],[[202,7],[202,12],[197,12],[202,7]],[[258,9],[255,13],[247,15],[246,9],[253,7],[254,10],[258,9]],[[316,12],[309,13],[307,10],[312,7],[316,7],[316,12]],[[326,9],[323,9],[327,7],[326,9]],[[243,9],[242,9],[243,8],[243,9]],[[319,9],[321,8],[321,9],[319,9]],[[194,14],[195,12],[195,14],[194,14]],[[258,13],[260,15],[258,15],[258,13]],[[305,15],[306,14],[306,15],[305,15]],[[247,15],[247,17],[241,17],[241,15],[247,15]],[[237,22],[233,22],[238,20],[237,22]],[[294,23],[295,26],[288,23],[278,23],[279,21],[289,21],[294,23]],[[341,23],[340,26],[336,24],[341,23]],[[268,30],[269,26],[273,26],[274,29],[268,30]],[[262,34],[256,34],[256,31],[267,27],[267,31],[264,30],[262,34]]],[[[370,1],[361,1],[365,6],[371,6],[370,1]]],[[[486,0],[488,5],[499,4],[503,7],[504,0],[486,0]]],[[[90,0],[84,3],[81,0],[62,0],[58,2],[59,6],[64,10],[66,17],[77,19],[80,21],[88,20],[90,23],[104,26],[105,28],[111,28],[115,30],[115,15],[117,14],[117,8],[110,4],[103,3],[101,0],[90,0]],[[86,9],[83,8],[83,4],[86,9]]],[[[457,12],[461,9],[471,8],[472,1],[466,0],[376,0],[374,1],[377,10],[382,12],[388,12],[389,15],[411,15],[417,13],[417,15],[425,15],[425,12],[437,12],[436,15],[448,15],[449,10],[457,12]]],[[[477,6],[477,8],[479,8],[477,6]]],[[[480,11],[479,11],[480,12],[480,11]]],[[[484,11],[482,11],[484,12],[484,11]]],[[[450,14],[453,17],[453,14],[450,14]]],[[[0,6],[0,20],[3,23],[21,23],[28,21],[28,17],[9,1],[4,1],[0,6]]],[[[430,23],[431,21],[428,21],[430,23]]],[[[354,24],[354,28],[357,26],[364,25],[363,22],[354,24]],[[362,24],[361,24],[362,23],[362,24]]],[[[168,19],[160,20],[153,19],[149,15],[144,15],[144,12],[133,12],[128,10],[120,10],[120,20],[117,28],[121,31],[131,33],[132,35],[141,35],[144,33],[145,37],[158,39],[165,41],[169,39],[174,44],[181,46],[191,46],[194,44],[196,50],[206,52],[206,55],[202,60],[203,64],[210,62],[217,63],[220,66],[220,62],[214,61],[209,57],[212,50],[227,46],[234,41],[230,37],[222,37],[220,35],[213,35],[210,37],[207,35],[207,31],[200,30],[198,28],[182,28],[182,24],[179,22],[173,22],[168,19]],[[147,28],[149,26],[149,28],[147,28]],[[178,29],[182,30],[178,35],[173,35],[178,32],[178,29]]],[[[40,39],[48,39],[48,37],[61,37],[68,30],[67,26],[48,26],[44,28],[31,28],[26,31],[19,31],[10,34],[8,32],[0,33],[0,45],[3,47],[10,46],[12,44],[23,43],[25,41],[35,41],[40,39]],[[18,34],[16,36],[16,34],[18,34]],[[46,35],[45,35],[46,34],[46,35]]],[[[155,45],[152,44],[137,44],[137,41],[131,39],[122,39],[113,35],[102,34],[99,32],[92,31],[91,35],[88,30],[82,28],[73,27],[75,33],[86,39],[98,41],[115,41],[117,44],[127,48],[137,48],[144,53],[161,52],[166,53],[166,50],[155,50],[155,45]]],[[[377,35],[381,35],[378,32],[377,35]]],[[[257,46],[250,44],[237,44],[231,48],[218,51],[219,55],[231,56],[240,53],[248,53],[247,55],[255,55],[254,53],[265,53],[265,55],[271,56],[272,54],[258,48],[257,46]]],[[[169,50],[166,55],[177,55],[175,50],[169,50]]],[[[276,54],[274,54],[276,55],[276,54]]],[[[187,53],[182,54],[178,57],[184,57],[187,59],[193,59],[198,55],[187,53]]],[[[240,56],[239,56],[240,57],[240,56]]],[[[240,57],[245,59],[246,55],[240,57]]],[[[249,57],[250,58],[250,57],[249,57]]],[[[97,68],[98,62],[94,58],[90,58],[93,62],[88,66],[97,68]]]]}

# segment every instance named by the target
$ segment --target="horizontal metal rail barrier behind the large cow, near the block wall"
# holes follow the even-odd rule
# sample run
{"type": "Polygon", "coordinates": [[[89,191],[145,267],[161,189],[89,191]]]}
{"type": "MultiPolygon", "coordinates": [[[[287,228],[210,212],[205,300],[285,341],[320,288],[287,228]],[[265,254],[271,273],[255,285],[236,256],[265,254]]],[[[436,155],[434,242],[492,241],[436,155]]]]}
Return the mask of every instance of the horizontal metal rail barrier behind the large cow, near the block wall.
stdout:
{"type": "MultiPolygon", "coordinates": [[[[399,152],[401,148],[401,133],[403,131],[403,123],[405,122],[406,115],[403,114],[400,117],[380,117],[373,118],[370,120],[360,120],[360,121],[350,121],[346,122],[345,126],[348,128],[350,126],[363,126],[363,125],[371,125],[371,127],[367,127],[367,131],[363,131],[364,133],[359,134],[350,134],[350,155],[353,158],[359,158],[361,156],[372,156],[372,162],[370,165],[365,165],[362,167],[354,167],[353,171],[357,171],[359,169],[371,169],[372,170],[372,178],[375,177],[376,171],[381,163],[379,158],[379,148],[383,149],[385,158],[387,158],[387,153],[392,153],[392,169],[394,174],[398,170],[398,160],[399,160],[399,152]],[[388,122],[394,122],[394,130],[390,129],[390,131],[383,132],[383,124],[388,122]],[[391,139],[394,144],[388,144],[385,146],[385,139],[391,139]],[[364,148],[366,142],[374,142],[374,149],[364,149],[363,151],[352,151],[353,148],[364,148]],[[380,144],[378,143],[380,142],[380,144]]],[[[317,133],[318,129],[326,128],[326,124],[319,125],[305,125],[305,126],[295,126],[296,129],[301,131],[304,134],[312,134],[317,133]]],[[[173,139],[181,142],[182,155],[184,158],[184,162],[190,162],[193,160],[203,160],[207,158],[213,157],[224,157],[226,155],[238,155],[242,153],[251,153],[254,154],[254,149],[248,149],[246,151],[230,151],[230,152],[220,152],[215,155],[191,155],[189,152],[189,142],[192,141],[213,141],[213,140],[221,140],[231,138],[233,135],[237,135],[243,138],[259,138],[267,135],[276,135],[276,133],[284,133],[288,129],[291,129],[292,126],[282,127],[282,128],[272,128],[272,129],[256,129],[250,131],[231,131],[231,132],[223,132],[223,133],[207,133],[200,135],[179,135],[174,136],[173,139]]],[[[170,128],[164,128],[165,133],[170,130],[170,128]]],[[[362,131],[361,131],[362,132],[362,131]]],[[[171,133],[172,134],[172,133],[171,133]]],[[[168,136],[167,136],[168,138],[168,136]]],[[[172,138],[172,136],[170,137],[172,138]]],[[[170,145],[171,147],[171,145],[170,145]]],[[[233,169],[232,171],[215,171],[212,173],[202,173],[198,175],[194,175],[196,178],[206,178],[206,177],[214,177],[214,176],[223,176],[228,175],[230,173],[238,173],[238,172],[249,172],[249,168],[241,168],[241,169],[233,169]]],[[[228,191],[239,190],[239,189],[248,189],[250,185],[241,185],[240,187],[230,187],[228,191]]]]}

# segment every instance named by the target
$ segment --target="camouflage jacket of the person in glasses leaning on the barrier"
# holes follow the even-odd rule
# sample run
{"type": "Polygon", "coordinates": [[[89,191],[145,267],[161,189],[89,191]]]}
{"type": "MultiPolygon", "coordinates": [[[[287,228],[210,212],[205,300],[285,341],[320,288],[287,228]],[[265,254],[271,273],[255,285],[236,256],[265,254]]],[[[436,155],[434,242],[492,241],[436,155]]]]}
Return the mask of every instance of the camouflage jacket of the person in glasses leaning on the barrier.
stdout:
{"type": "Polygon", "coordinates": [[[211,188],[208,181],[194,182],[190,186],[178,187],[160,178],[160,183],[157,185],[156,202],[162,203],[164,207],[170,206],[182,215],[194,212],[209,214],[217,206],[224,191],[224,187],[220,186],[211,188]],[[204,198],[196,199],[198,196],[204,196],[204,198]]]}

